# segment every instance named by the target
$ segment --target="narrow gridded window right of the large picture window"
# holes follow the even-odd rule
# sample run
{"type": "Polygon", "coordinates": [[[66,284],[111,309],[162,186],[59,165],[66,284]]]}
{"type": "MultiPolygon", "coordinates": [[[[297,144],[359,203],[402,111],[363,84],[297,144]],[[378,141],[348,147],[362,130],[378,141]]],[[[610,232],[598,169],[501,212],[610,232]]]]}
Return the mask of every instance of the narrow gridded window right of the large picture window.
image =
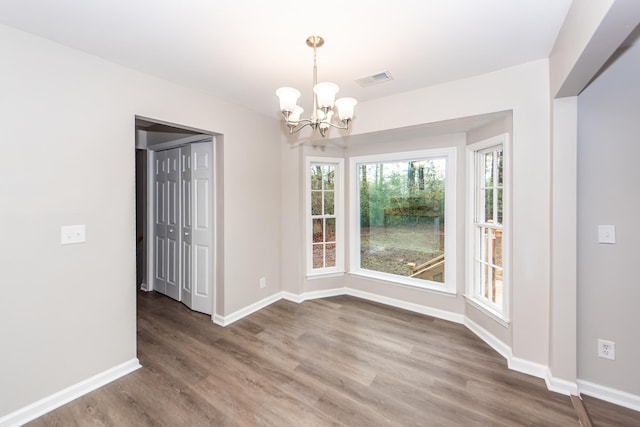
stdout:
{"type": "Polygon", "coordinates": [[[506,135],[468,147],[469,278],[468,293],[482,308],[506,318],[505,301],[505,146],[506,135]]]}

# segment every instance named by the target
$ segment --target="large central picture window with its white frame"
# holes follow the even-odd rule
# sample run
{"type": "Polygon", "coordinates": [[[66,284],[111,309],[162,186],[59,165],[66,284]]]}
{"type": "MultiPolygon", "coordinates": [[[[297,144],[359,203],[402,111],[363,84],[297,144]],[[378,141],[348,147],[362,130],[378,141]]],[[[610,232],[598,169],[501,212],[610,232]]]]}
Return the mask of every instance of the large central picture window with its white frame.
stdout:
{"type": "Polygon", "coordinates": [[[455,292],[455,149],[351,159],[351,273],[455,292]]]}

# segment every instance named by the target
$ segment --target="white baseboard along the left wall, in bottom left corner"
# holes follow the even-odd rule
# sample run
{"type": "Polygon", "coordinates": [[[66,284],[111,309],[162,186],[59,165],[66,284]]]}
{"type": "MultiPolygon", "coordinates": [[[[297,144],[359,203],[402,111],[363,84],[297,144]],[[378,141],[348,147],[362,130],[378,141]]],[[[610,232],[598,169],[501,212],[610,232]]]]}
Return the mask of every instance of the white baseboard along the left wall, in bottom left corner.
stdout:
{"type": "Polygon", "coordinates": [[[141,367],[137,358],[114,366],[111,369],[107,369],[91,378],[80,381],[22,409],[3,416],[0,418],[0,427],[21,426],[141,367]]]}

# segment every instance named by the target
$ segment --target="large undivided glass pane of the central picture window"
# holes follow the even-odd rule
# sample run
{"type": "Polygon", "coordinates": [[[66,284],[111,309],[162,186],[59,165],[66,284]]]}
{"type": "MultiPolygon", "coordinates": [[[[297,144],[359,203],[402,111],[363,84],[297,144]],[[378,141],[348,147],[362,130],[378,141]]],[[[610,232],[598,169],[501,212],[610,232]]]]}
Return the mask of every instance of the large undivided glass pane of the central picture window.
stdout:
{"type": "Polygon", "coordinates": [[[444,282],[446,159],[359,169],[360,267],[444,282]]]}

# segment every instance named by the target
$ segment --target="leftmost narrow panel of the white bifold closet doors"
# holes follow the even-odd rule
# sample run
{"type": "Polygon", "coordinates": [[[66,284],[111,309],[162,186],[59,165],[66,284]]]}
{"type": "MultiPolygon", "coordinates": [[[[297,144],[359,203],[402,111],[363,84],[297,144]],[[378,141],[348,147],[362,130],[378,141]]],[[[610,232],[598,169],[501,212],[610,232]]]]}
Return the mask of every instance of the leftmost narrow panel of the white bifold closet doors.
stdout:
{"type": "Polygon", "coordinates": [[[154,156],[153,174],[153,288],[167,292],[167,153],[154,156]]]}

